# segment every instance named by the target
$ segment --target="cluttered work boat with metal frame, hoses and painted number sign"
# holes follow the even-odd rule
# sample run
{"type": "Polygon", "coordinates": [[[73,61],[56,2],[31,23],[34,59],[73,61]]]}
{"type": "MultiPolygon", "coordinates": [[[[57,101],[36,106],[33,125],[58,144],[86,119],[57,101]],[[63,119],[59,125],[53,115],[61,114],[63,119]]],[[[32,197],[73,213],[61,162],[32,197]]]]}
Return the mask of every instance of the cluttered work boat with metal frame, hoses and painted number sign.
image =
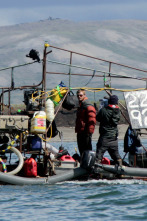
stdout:
{"type": "MultiPolygon", "coordinates": [[[[46,71],[46,62],[47,55],[52,52],[48,51],[49,47],[68,51],[54,46],[49,46],[48,43],[45,43],[42,60],[39,57],[38,51],[34,49],[30,51],[27,57],[34,60],[32,63],[42,62],[43,71],[42,80],[40,83],[38,83],[37,85],[14,87],[13,70],[14,68],[16,68],[14,66],[10,67],[10,69],[12,69],[11,86],[0,88],[0,184],[55,184],[57,182],[67,181],[71,179],[85,180],[135,178],[146,180],[147,151],[145,148],[143,148],[143,146],[137,145],[136,141],[135,148],[137,149],[135,149],[134,152],[132,152],[132,149],[131,151],[127,150],[127,153],[129,152],[129,163],[123,161],[122,166],[114,165],[114,163],[107,158],[103,158],[102,162],[97,164],[95,162],[96,154],[93,151],[85,151],[80,159],[77,153],[75,153],[73,156],[70,156],[68,151],[64,150],[62,145],[60,146],[59,150],[56,150],[53,146],[48,144],[50,138],[58,134],[54,119],[58,114],[59,109],[62,107],[63,104],[64,107],[67,108],[67,110],[71,110],[77,105],[77,101],[74,96],[72,97],[73,100],[70,100],[70,104],[66,103],[65,105],[65,101],[67,102],[67,97],[70,92],[70,84],[69,87],[67,87],[64,85],[63,82],[61,82],[57,85],[56,88],[50,90],[49,93],[47,91],[46,74],[48,72],[46,71]],[[18,111],[17,113],[11,112],[12,106],[10,93],[14,90],[24,91],[24,111],[18,111]],[[4,95],[6,93],[8,93],[9,98],[7,105],[4,104],[4,95]],[[6,108],[8,109],[7,114],[5,113],[6,108]],[[11,162],[13,154],[15,154],[17,158],[15,158],[14,162],[11,162]]],[[[86,55],[73,51],[68,52],[71,56],[70,64],[64,65],[67,65],[69,67],[70,73],[68,75],[71,76],[71,67],[78,67],[78,65],[72,65],[72,54],[75,53],[81,56],[86,55]]],[[[102,59],[99,58],[94,58],[91,56],[87,57],[102,61],[102,59]]],[[[61,62],[57,61],[50,60],[49,62],[61,64],[61,62]]],[[[112,63],[112,61],[109,62],[109,64],[112,63]]],[[[93,71],[93,74],[91,75],[92,79],[95,76],[96,70],[91,70],[93,71]]],[[[102,71],[102,73],[104,74],[105,78],[106,71],[102,71]]],[[[113,77],[110,76],[110,70],[107,74],[108,77],[113,77]]],[[[106,91],[106,93],[110,95],[112,88],[106,83],[108,82],[104,82],[103,91],[106,91]]],[[[102,89],[95,88],[94,90],[101,91],[102,89]]],[[[141,90],[134,90],[131,92],[126,91],[124,92],[124,96],[130,117],[130,121],[128,122],[129,126],[131,125],[131,128],[134,131],[146,128],[147,122],[146,120],[144,120],[144,108],[146,108],[147,106],[145,103],[147,97],[146,88],[141,90]],[[131,99],[131,97],[133,97],[133,99],[131,99]],[[134,106],[132,105],[133,102],[135,103],[134,106]],[[141,112],[143,114],[140,114],[139,117],[136,117],[136,115],[134,114],[135,111],[138,111],[138,113],[141,112]]],[[[105,103],[105,99],[101,100],[101,105],[103,105],[103,103],[105,103]]]]}

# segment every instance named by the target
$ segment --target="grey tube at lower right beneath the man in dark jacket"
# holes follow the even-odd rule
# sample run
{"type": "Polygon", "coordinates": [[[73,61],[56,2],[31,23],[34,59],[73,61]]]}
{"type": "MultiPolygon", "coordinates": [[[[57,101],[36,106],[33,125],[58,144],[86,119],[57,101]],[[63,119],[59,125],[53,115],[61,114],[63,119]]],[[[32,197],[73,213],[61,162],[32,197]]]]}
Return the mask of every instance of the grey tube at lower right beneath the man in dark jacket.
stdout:
{"type": "Polygon", "coordinates": [[[127,166],[112,166],[106,164],[97,164],[98,167],[110,173],[127,175],[127,176],[137,176],[137,177],[147,177],[147,168],[138,167],[127,167],[127,166]]]}

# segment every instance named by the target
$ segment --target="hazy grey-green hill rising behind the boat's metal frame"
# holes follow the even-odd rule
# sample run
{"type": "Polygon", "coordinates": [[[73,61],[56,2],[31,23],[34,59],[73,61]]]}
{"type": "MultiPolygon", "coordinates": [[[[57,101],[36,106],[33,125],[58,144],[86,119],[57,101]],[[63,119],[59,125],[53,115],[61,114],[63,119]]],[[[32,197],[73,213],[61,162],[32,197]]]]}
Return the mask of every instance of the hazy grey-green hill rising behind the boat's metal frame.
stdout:
{"type": "MultiPolygon", "coordinates": [[[[97,21],[97,22],[72,22],[61,19],[47,19],[35,23],[19,24],[0,27],[0,69],[30,62],[26,54],[33,48],[43,57],[44,42],[50,45],[77,51],[90,56],[125,65],[147,69],[147,21],[97,21]]],[[[69,54],[52,49],[48,55],[50,60],[69,63],[69,54]]],[[[73,56],[73,64],[96,70],[109,71],[108,64],[90,58],[73,56]]],[[[48,71],[69,72],[69,67],[47,64],[48,71]]],[[[145,73],[130,71],[129,69],[112,65],[112,73],[145,77],[145,73]]],[[[92,71],[72,69],[74,73],[92,74],[92,71]]],[[[0,87],[10,86],[11,70],[0,72],[0,87]]],[[[41,81],[42,63],[14,69],[15,87],[20,85],[34,85],[41,81]]],[[[90,77],[72,77],[72,87],[83,87],[90,77]]],[[[69,85],[68,76],[48,75],[47,87],[54,88],[60,81],[69,85]]],[[[109,80],[109,79],[108,79],[109,80]]],[[[142,81],[111,80],[113,87],[136,88],[145,87],[142,81]]],[[[103,87],[103,78],[93,78],[88,87],[103,87]]],[[[20,103],[22,92],[13,93],[13,102],[20,103]]],[[[103,95],[89,95],[91,100],[98,100],[103,95]]]]}

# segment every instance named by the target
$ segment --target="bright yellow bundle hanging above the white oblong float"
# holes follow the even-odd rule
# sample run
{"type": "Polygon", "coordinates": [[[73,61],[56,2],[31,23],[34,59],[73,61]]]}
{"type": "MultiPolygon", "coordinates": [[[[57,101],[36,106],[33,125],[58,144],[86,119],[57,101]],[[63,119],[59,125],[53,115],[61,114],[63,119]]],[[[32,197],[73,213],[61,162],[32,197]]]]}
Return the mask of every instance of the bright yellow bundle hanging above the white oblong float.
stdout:
{"type": "Polygon", "coordinates": [[[58,105],[58,103],[61,101],[61,99],[66,94],[67,89],[66,87],[59,87],[59,85],[56,87],[56,89],[53,89],[51,91],[51,97],[50,99],[53,101],[54,105],[58,105]]]}

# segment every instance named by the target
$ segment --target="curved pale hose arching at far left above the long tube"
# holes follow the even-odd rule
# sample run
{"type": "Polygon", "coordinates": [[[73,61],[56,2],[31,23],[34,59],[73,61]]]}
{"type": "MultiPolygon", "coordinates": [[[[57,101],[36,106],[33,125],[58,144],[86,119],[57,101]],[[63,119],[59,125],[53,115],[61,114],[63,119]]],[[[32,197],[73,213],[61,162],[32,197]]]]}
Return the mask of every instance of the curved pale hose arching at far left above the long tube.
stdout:
{"type": "Polygon", "coordinates": [[[19,159],[19,164],[18,166],[15,168],[15,170],[12,170],[10,172],[7,172],[7,174],[11,174],[11,175],[14,175],[14,174],[17,174],[23,167],[23,164],[24,164],[24,159],[23,159],[23,156],[21,154],[21,152],[19,150],[17,150],[15,147],[11,147],[10,149],[12,152],[14,152],[17,156],[18,156],[18,159],[19,159]]]}

